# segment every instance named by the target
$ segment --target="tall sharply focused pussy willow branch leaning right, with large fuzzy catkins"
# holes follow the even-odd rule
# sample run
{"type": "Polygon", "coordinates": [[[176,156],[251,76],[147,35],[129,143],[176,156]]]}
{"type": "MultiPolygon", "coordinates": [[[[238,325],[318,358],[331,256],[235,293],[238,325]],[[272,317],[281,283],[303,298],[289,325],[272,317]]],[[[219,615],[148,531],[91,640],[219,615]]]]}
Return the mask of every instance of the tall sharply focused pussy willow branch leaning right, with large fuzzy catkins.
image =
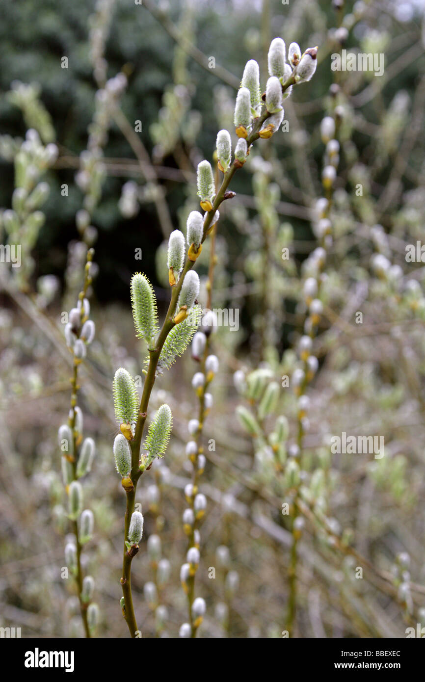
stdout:
{"type": "MultiPolygon", "coordinates": [[[[238,141],[233,160],[230,133],[222,130],[217,137],[217,156],[218,167],[224,177],[217,190],[211,164],[204,160],[198,165],[197,190],[201,209],[205,213],[192,213],[188,222],[189,246],[186,257],[185,240],[181,231],[173,231],[168,241],[168,282],[172,291],[168,311],[160,329],[156,297],[149,280],[141,273],[132,278],[131,295],[136,334],[138,338],[145,340],[149,351],[139,406],[132,376],[125,369],[119,368],[114,378],[115,416],[121,430],[115,438],[114,456],[127,498],[121,606],[132,637],[137,636],[139,631],[132,602],[131,564],[143,534],[143,515],[140,511],[134,511],[136,487],[138,479],[150,468],[153,460],[164,455],[172,423],[171,410],[164,404],[153,417],[143,444],[146,452],[141,454],[151,391],[156,376],[184,353],[198,327],[199,308],[196,306],[196,297],[199,294],[199,277],[192,268],[201,254],[203,242],[219,218],[220,205],[234,196],[233,192],[227,192],[231,179],[236,170],[244,165],[252,143],[259,138],[269,138],[278,130],[284,116],[283,99],[291,93],[293,85],[312,78],[317,67],[317,48],[308,48],[301,55],[298,46],[291,44],[289,60],[291,64],[286,61],[284,41],[275,38],[269,49],[270,77],[263,95],[258,63],[250,60],[246,64],[235,104],[234,123],[238,141]]],[[[195,599],[192,611],[196,602],[195,599]]],[[[193,614],[196,621],[202,619],[205,603],[200,602],[197,606],[199,608],[193,614]]]]}

